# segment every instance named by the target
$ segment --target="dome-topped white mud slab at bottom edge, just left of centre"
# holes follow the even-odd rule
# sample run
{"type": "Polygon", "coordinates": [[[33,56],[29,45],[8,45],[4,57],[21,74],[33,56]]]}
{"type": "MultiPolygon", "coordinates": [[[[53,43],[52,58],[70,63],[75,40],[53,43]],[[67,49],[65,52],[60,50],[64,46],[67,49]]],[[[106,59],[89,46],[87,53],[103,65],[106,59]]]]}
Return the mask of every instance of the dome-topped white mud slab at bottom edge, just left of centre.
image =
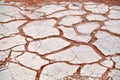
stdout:
{"type": "Polygon", "coordinates": [[[72,66],[65,63],[55,63],[46,66],[40,76],[40,80],[61,80],[62,78],[72,75],[78,66],[72,66]]]}

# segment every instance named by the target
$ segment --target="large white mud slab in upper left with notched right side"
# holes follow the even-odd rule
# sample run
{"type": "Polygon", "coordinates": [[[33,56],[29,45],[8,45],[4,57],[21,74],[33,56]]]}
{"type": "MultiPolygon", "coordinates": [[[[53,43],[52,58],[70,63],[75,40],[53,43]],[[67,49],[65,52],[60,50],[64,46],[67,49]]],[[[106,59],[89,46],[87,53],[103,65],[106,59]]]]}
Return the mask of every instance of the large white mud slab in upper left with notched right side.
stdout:
{"type": "Polygon", "coordinates": [[[59,35],[59,31],[54,28],[56,21],[53,19],[50,20],[41,20],[33,21],[27,24],[23,31],[26,35],[32,36],[33,38],[42,38],[51,35],[59,35]]]}

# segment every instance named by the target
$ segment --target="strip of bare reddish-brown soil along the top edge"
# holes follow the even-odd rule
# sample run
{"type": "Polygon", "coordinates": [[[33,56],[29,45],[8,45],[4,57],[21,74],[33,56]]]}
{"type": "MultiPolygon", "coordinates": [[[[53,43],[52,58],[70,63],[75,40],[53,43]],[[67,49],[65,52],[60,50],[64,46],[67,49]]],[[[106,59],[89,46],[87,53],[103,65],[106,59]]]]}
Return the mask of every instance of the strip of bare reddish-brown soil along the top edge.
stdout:
{"type": "Polygon", "coordinates": [[[120,0],[5,0],[6,2],[11,2],[11,1],[17,1],[17,2],[24,2],[28,4],[36,4],[36,3],[44,3],[44,2],[62,2],[62,1],[93,1],[93,2],[98,2],[98,3],[106,3],[108,5],[119,5],[120,6],[120,0]]]}

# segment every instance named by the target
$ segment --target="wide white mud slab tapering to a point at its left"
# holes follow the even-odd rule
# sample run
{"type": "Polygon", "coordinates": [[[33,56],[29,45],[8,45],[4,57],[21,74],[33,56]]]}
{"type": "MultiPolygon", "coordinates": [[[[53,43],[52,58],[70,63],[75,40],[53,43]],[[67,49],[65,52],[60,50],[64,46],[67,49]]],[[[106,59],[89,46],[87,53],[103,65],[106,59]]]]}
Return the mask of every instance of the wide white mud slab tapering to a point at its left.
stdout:
{"type": "Polygon", "coordinates": [[[55,61],[69,61],[70,63],[91,63],[98,61],[101,57],[89,46],[74,46],[65,51],[48,55],[47,58],[55,61]],[[89,56],[88,56],[89,55],[89,56]]]}

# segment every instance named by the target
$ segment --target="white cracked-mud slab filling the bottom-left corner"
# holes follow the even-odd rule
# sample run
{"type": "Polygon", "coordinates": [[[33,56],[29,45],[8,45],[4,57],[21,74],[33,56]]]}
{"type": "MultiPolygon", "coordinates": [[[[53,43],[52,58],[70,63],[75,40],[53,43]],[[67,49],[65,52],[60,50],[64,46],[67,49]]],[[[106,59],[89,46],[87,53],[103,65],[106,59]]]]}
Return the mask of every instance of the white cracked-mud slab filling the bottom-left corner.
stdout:
{"type": "Polygon", "coordinates": [[[0,68],[0,80],[35,80],[36,72],[17,64],[7,63],[0,68]]]}

